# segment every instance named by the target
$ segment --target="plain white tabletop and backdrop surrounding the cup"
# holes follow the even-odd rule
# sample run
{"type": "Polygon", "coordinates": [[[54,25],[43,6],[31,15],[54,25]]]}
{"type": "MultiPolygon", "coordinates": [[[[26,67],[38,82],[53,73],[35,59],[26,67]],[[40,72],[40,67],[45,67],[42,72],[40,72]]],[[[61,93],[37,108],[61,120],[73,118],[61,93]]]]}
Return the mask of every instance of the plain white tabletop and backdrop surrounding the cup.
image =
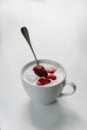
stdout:
{"type": "Polygon", "coordinates": [[[1,130],[87,130],[87,1],[1,0],[0,36],[1,130]],[[20,80],[23,65],[34,60],[21,26],[38,58],[65,67],[74,95],[48,106],[32,103],[20,80]]]}

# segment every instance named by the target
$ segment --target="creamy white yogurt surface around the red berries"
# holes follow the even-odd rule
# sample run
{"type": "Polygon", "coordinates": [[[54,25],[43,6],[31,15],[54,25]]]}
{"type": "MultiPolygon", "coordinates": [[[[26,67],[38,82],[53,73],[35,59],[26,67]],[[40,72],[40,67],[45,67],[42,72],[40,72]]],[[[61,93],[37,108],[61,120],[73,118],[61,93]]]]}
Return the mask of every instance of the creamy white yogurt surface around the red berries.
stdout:
{"type": "MultiPolygon", "coordinates": [[[[57,78],[56,80],[51,80],[50,83],[46,84],[46,85],[43,85],[43,86],[50,86],[50,85],[54,85],[54,84],[58,84],[60,83],[63,79],[64,79],[64,73],[62,71],[62,69],[55,65],[51,65],[51,64],[48,64],[48,63],[41,63],[40,65],[44,66],[45,69],[56,69],[56,71],[53,73],[53,75],[55,75],[57,78]]],[[[33,64],[31,66],[29,66],[25,72],[24,72],[24,79],[29,82],[29,84],[32,84],[32,85],[35,85],[35,86],[38,86],[37,84],[37,81],[41,78],[39,76],[37,76],[34,71],[33,71],[33,67],[36,66],[36,64],[33,64]]]]}

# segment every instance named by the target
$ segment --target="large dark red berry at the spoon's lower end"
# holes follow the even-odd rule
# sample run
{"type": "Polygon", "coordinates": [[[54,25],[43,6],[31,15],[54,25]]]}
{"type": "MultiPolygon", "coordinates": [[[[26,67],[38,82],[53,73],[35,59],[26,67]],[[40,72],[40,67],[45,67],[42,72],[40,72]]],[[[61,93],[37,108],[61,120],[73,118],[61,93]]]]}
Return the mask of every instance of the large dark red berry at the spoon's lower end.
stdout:
{"type": "Polygon", "coordinates": [[[45,68],[42,65],[37,65],[33,68],[33,71],[35,72],[36,75],[43,77],[43,76],[47,76],[48,73],[45,70],[45,68]]]}

